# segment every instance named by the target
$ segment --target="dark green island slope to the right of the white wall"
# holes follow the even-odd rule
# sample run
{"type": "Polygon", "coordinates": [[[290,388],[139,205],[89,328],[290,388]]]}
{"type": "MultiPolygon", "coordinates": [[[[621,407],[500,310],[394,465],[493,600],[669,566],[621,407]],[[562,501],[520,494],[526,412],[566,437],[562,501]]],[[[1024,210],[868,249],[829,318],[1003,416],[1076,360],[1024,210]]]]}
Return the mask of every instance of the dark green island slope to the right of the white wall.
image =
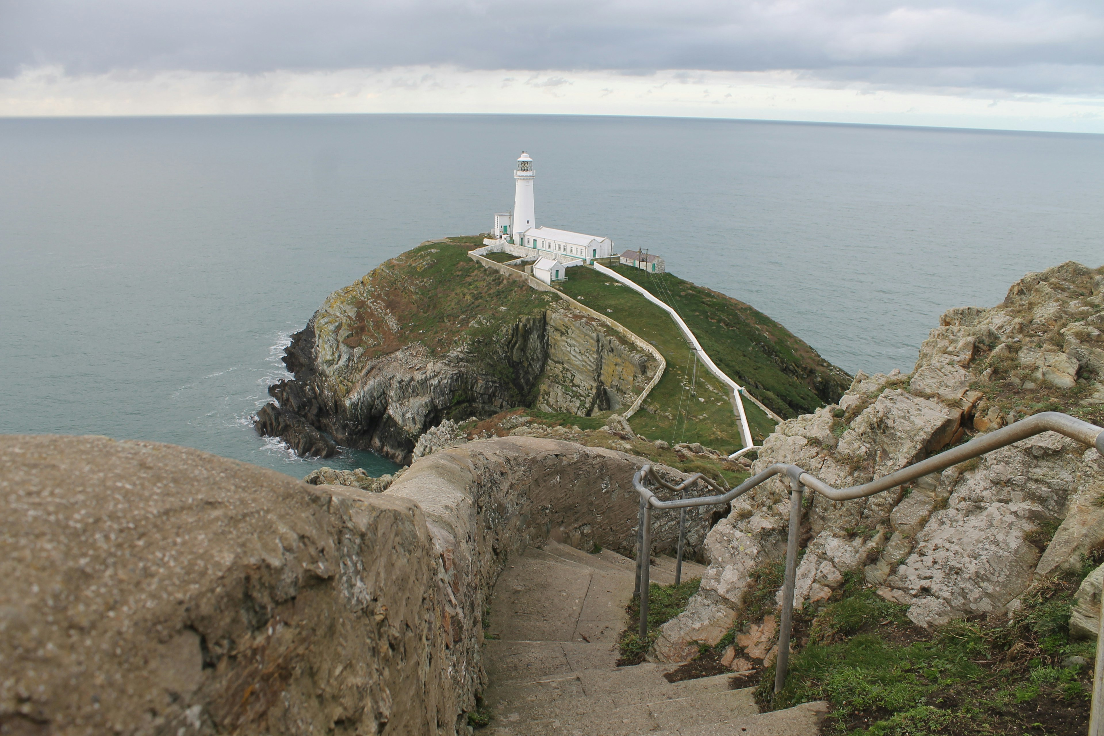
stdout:
{"type": "Polygon", "coordinates": [[[784,418],[835,403],[851,377],[782,324],[671,274],[614,267],[678,311],[718,367],[784,418]]]}

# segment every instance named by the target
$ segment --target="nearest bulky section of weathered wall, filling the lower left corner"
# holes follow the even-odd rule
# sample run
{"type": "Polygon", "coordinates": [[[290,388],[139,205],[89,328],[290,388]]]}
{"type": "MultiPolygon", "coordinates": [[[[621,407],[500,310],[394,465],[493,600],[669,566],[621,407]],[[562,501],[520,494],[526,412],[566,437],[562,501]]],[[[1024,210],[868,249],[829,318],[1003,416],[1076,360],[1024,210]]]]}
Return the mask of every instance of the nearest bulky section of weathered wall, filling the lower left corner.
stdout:
{"type": "Polygon", "coordinates": [[[0,724],[19,734],[429,734],[417,504],[169,445],[0,437],[0,724]]]}

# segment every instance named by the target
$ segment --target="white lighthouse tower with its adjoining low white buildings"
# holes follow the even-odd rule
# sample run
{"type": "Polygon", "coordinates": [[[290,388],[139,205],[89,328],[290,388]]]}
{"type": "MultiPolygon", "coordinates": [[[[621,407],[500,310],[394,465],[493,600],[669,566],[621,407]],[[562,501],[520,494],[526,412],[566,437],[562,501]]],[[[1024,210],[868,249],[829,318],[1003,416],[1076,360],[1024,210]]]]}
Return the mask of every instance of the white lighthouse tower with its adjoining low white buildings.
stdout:
{"type": "MultiPolygon", "coordinates": [[[[513,171],[513,212],[499,212],[495,215],[495,239],[486,243],[499,245],[519,258],[544,258],[562,265],[560,268],[542,268],[541,276],[538,276],[541,280],[545,280],[543,271],[554,274],[551,280],[560,280],[566,278],[569,265],[590,264],[596,258],[613,257],[614,242],[608,237],[537,226],[537,210],[533,204],[535,177],[533,160],[522,151],[513,171]]],[[[537,275],[535,266],[533,275],[537,275]]]]}

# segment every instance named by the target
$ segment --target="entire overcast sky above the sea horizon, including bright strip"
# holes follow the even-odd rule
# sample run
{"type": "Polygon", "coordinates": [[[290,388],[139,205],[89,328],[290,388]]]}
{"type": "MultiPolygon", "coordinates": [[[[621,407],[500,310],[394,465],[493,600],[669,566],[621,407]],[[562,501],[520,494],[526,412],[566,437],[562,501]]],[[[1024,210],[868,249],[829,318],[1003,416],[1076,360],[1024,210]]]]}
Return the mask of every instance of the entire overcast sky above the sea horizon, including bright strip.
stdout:
{"type": "Polygon", "coordinates": [[[265,111],[1104,132],[1104,0],[0,0],[0,115],[265,111]]]}

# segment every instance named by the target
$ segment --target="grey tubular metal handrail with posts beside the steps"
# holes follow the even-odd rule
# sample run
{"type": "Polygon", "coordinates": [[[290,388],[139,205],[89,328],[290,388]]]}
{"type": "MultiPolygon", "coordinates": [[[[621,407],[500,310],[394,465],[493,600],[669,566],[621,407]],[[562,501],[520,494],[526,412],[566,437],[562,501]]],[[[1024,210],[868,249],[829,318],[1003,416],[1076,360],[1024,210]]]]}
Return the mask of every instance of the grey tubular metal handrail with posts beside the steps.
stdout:
{"type": "MultiPolygon", "coordinates": [[[[790,488],[790,493],[789,532],[786,541],[786,577],[783,584],[782,626],[778,632],[778,659],[774,678],[774,692],[779,692],[785,683],[786,668],[789,662],[789,636],[793,628],[794,615],[794,584],[797,574],[797,538],[802,526],[802,493],[805,488],[809,488],[831,501],[861,499],[888,491],[891,488],[944,470],[951,466],[970,460],[986,452],[991,452],[1001,447],[1007,447],[1021,439],[1027,439],[1044,431],[1057,431],[1082,445],[1095,447],[1101,455],[1104,455],[1104,428],[1060,412],[1041,412],[996,431],[976,437],[965,445],[959,445],[944,452],[933,455],[925,460],[891,472],[869,483],[843,489],[832,488],[796,465],[778,462],[752,476],[728,492],[715,495],[662,501],[644,484],[643,480],[645,477],[657,486],[666,488],[669,491],[679,492],[680,494],[684,494],[690,486],[698,482],[702,482],[716,491],[722,489],[701,473],[694,473],[678,486],[672,486],[660,478],[650,463],[643,466],[633,474],[633,487],[640,494],[640,520],[637,532],[636,555],[636,588],[640,596],[640,639],[647,641],[648,637],[648,578],[650,572],[649,555],[651,553],[652,509],[687,509],[689,506],[729,503],[774,476],[785,476],[790,488]]],[[[1097,641],[1104,642],[1104,614],[1101,616],[1101,629],[1097,641]]],[[[1092,736],[1104,736],[1104,646],[1097,646],[1096,648],[1096,668],[1094,671],[1092,716],[1089,733],[1092,736]]]]}

